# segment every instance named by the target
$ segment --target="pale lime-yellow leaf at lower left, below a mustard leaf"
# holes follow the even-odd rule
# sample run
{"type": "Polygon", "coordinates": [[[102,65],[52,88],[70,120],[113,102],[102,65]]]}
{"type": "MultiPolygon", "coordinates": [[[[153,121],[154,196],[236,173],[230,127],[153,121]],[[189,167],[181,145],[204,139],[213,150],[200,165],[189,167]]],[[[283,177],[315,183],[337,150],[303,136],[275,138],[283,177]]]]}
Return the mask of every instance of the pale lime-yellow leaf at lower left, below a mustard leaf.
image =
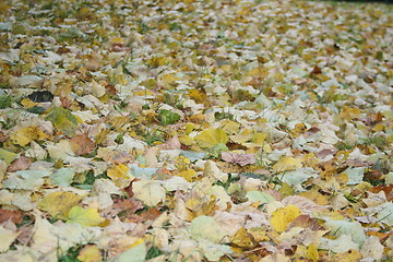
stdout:
{"type": "Polygon", "coordinates": [[[82,209],[81,206],[73,206],[68,213],[69,221],[68,222],[76,222],[82,226],[98,226],[105,218],[98,214],[96,209],[82,209]]]}

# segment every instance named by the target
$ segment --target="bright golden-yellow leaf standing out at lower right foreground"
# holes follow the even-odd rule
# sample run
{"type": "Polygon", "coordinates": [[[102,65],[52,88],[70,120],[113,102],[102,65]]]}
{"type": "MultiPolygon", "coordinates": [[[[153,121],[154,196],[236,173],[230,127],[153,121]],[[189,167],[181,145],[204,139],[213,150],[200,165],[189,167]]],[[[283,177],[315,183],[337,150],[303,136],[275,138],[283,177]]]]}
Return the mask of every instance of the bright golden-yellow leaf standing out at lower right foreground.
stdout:
{"type": "Polygon", "coordinates": [[[279,233],[285,231],[288,224],[299,215],[301,215],[300,209],[296,205],[289,204],[285,207],[279,207],[272,213],[271,225],[279,233]]]}

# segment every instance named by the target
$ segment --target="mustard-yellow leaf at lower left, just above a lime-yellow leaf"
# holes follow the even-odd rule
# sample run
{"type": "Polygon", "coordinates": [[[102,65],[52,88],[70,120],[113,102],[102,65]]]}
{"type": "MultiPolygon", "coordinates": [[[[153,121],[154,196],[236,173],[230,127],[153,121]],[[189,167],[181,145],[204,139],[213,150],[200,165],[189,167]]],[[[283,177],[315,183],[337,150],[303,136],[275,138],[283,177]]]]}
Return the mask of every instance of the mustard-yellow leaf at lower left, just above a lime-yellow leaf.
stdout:
{"type": "Polygon", "coordinates": [[[67,214],[72,206],[83,199],[82,195],[71,192],[55,192],[45,196],[39,203],[38,209],[46,211],[55,218],[67,218],[67,214]]]}

